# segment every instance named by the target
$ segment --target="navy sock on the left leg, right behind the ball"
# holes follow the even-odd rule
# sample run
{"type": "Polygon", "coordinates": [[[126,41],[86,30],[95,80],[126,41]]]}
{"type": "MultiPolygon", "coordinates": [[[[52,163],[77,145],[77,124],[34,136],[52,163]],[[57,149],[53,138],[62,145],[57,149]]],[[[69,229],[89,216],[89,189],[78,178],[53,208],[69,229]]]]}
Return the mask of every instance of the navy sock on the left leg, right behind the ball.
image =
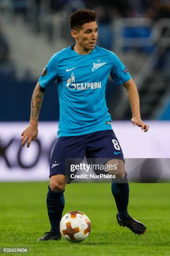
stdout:
{"type": "Polygon", "coordinates": [[[64,209],[64,190],[61,192],[53,191],[50,186],[48,186],[47,193],[47,211],[48,217],[51,224],[51,230],[59,235],[60,234],[60,220],[62,218],[62,211],[64,209]]]}

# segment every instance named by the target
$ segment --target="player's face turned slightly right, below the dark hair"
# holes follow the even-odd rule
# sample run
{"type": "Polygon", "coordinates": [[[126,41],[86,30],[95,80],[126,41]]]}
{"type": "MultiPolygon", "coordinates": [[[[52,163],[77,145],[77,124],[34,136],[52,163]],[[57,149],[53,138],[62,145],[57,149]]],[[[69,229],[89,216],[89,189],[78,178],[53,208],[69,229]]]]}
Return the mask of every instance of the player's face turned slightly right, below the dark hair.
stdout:
{"type": "Polygon", "coordinates": [[[83,24],[80,31],[77,32],[76,44],[80,44],[86,51],[93,50],[98,36],[97,30],[96,21],[83,24]]]}

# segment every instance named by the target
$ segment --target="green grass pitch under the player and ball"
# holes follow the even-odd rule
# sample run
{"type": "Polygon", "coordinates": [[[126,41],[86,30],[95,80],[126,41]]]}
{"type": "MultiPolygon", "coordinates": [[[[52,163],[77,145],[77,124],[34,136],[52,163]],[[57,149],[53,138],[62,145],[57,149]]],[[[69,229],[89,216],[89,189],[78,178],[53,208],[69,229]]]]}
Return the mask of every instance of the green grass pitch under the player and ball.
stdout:
{"type": "Polygon", "coordinates": [[[67,185],[63,214],[82,211],[92,226],[87,240],[76,244],[37,242],[50,228],[47,184],[0,183],[0,247],[28,247],[29,256],[170,255],[170,184],[130,184],[129,213],[147,226],[141,236],[117,224],[110,184],[67,185]]]}

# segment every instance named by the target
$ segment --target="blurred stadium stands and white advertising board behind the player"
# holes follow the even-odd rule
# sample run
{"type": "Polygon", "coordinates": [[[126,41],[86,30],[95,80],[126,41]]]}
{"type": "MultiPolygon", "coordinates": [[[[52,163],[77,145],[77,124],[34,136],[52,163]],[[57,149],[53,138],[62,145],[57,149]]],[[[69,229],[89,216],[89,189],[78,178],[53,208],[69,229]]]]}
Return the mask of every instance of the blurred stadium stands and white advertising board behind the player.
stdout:
{"type": "Polygon", "coordinates": [[[68,17],[80,8],[96,10],[97,44],[127,66],[140,94],[141,116],[150,125],[146,134],[131,125],[125,88],[113,87],[109,79],[107,106],[124,156],[170,158],[170,1],[102,2],[0,0],[0,181],[48,177],[59,120],[56,84],[45,92],[37,141],[22,148],[20,133],[28,125],[32,92],[45,64],[74,43],[68,17]]]}

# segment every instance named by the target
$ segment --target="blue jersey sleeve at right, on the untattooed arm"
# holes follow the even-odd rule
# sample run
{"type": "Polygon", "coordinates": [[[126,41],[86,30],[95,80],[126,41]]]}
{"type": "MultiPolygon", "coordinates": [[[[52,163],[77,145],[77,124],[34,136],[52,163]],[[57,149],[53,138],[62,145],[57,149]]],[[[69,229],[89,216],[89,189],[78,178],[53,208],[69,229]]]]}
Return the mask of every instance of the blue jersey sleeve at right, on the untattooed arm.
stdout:
{"type": "Polygon", "coordinates": [[[110,72],[110,77],[115,82],[115,84],[124,84],[128,82],[131,78],[128,69],[120,61],[120,59],[112,53],[112,69],[110,72]]]}

